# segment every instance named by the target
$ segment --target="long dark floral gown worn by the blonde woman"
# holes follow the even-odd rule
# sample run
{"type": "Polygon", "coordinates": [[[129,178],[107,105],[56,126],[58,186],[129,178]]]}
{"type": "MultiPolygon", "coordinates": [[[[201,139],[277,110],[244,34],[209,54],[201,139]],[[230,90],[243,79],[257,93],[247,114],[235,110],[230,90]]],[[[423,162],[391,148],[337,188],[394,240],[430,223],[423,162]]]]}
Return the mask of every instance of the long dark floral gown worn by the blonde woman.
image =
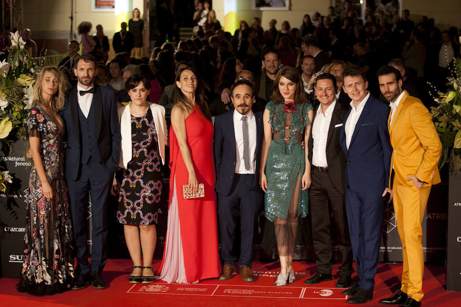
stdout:
{"type": "Polygon", "coordinates": [[[50,295],[70,288],[74,276],[72,222],[64,178],[64,127],[59,129],[38,105],[26,120],[29,136],[40,138],[40,157],[53,199],[41,189],[35,165],[29,176],[26,205],[25,260],[16,288],[33,295],[50,295]]]}

